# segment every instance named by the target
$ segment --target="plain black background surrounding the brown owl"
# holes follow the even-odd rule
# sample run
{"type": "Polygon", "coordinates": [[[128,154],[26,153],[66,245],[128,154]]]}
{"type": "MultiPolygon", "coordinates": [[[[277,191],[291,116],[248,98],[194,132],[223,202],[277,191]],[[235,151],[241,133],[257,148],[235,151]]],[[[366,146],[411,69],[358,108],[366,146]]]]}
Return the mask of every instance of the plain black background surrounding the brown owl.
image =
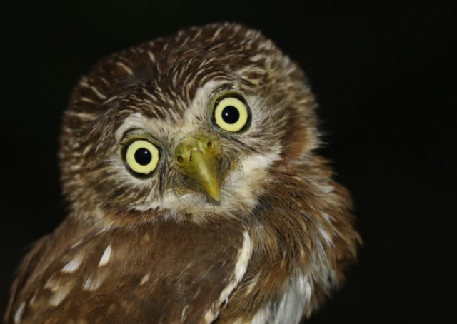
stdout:
{"type": "Polygon", "coordinates": [[[305,69],[321,153],[356,203],[359,263],[310,323],[455,323],[453,1],[36,2],[0,14],[1,313],[27,247],[65,215],[57,143],[79,76],[141,41],[238,21],[305,69]]]}

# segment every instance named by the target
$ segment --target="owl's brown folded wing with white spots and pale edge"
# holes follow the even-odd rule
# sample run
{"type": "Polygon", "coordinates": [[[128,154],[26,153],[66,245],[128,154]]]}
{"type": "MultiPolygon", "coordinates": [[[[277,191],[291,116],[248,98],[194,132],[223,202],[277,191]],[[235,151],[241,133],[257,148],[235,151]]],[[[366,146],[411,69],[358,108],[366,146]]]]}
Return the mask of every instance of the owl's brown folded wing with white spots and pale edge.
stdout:
{"type": "Polygon", "coordinates": [[[66,239],[54,235],[26,258],[6,323],[211,323],[251,258],[248,231],[236,221],[156,222],[91,234],[62,255],[49,248],[66,239]],[[36,258],[51,260],[38,276],[36,258]]]}

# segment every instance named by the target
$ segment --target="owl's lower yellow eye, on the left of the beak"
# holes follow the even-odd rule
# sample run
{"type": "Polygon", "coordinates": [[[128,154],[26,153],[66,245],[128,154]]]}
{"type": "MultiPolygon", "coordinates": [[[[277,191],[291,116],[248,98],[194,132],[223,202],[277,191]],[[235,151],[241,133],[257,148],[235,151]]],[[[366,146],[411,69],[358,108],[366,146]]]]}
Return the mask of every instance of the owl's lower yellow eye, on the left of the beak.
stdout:
{"type": "Polygon", "coordinates": [[[136,176],[149,176],[159,164],[159,148],[143,138],[126,143],[122,154],[124,163],[136,176]]]}

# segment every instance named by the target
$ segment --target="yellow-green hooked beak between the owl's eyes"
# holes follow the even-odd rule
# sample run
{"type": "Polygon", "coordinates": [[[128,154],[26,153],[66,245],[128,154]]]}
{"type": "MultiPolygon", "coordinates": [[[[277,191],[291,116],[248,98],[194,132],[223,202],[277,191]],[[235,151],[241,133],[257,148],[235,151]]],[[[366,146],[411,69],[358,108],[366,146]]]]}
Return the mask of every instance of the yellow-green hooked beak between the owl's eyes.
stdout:
{"type": "Polygon", "coordinates": [[[201,187],[214,200],[221,198],[218,182],[220,154],[215,142],[208,136],[199,134],[184,138],[175,149],[175,163],[197,187],[201,187]]]}

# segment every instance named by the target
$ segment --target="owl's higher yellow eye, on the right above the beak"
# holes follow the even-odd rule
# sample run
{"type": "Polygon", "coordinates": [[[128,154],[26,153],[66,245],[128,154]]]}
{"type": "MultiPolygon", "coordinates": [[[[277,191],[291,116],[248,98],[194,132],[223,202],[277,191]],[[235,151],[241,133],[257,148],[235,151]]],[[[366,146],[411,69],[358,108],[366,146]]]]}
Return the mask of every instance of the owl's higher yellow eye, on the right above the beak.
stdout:
{"type": "Polygon", "coordinates": [[[248,125],[249,113],[249,107],[243,98],[224,96],[214,104],[213,121],[224,131],[236,133],[248,125]]]}

